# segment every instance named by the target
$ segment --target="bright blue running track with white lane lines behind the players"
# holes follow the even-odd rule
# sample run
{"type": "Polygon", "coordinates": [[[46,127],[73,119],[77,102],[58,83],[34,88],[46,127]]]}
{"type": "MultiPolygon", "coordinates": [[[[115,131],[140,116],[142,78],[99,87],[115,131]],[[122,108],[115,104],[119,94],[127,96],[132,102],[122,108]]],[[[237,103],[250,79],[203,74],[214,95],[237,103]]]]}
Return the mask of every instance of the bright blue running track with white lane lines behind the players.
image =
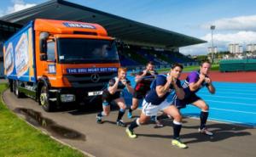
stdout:
{"type": "MultiPolygon", "coordinates": [[[[129,76],[132,87],[134,78],[129,76]]],[[[256,83],[213,82],[216,93],[207,87],[197,94],[210,106],[209,120],[224,121],[245,126],[256,126],[256,83]]],[[[131,104],[131,94],[125,93],[126,104],[131,104]]],[[[181,109],[185,116],[199,117],[200,109],[193,105],[181,109]]]]}

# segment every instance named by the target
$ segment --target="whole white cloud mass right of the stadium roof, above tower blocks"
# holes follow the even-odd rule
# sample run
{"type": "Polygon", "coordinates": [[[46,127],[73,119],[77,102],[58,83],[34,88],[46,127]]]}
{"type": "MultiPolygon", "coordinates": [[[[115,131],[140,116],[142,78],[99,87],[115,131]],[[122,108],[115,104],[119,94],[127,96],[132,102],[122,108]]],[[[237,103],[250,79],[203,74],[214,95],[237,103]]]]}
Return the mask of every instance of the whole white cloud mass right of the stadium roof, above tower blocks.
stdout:
{"type": "MultiPolygon", "coordinates": [[[[216,25],[213,31],[213,44],[218,51],[228,51],[230,43],[238,43],[246,48],[249,43],[256,43],[256,15],[239,16],[230,19],[221,19],[201,25],[202,29],[210,31],[210,25],[216,25]]],[[[212,47],[212,35],[200,37],[207,43],[180,48],[184,54],[206,54],[207,48],[212,47]]]]}

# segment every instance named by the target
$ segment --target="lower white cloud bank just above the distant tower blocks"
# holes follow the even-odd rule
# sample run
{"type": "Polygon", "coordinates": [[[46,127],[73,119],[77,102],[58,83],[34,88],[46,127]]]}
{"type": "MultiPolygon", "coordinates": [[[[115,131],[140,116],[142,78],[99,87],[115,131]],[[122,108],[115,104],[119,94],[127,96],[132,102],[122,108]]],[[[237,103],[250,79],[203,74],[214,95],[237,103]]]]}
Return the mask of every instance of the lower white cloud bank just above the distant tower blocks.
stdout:
{"type": "MultiPolygon", "coordinates": [[[[184,54],[206,54],[207,49],[212,47],[212,35],[209,33],[201,37],[207,43],[180,48],[180,52],[184,54]]],[[[236,33],[213,34],[213,46],[218,51],[228,51],[230,43],[238,43],[243,48],[249,43],[256,43],[256,31],[238,31],[236,33]]]]}

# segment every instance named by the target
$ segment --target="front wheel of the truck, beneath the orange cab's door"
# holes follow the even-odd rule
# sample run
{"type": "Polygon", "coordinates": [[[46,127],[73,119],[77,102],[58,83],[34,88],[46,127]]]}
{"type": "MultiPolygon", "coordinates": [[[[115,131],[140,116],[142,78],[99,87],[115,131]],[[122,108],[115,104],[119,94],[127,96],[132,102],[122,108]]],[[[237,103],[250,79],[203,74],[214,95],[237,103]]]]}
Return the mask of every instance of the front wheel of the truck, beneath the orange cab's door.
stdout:
{"type": "Polygon", "coordinates": [[[42,108],[47,112],[51,112],[54,109],[55,104],[49,101],[49,91],[48,87],[46,87],[45,85],[41,88],[39,104],[42,105],[42,108]]]}

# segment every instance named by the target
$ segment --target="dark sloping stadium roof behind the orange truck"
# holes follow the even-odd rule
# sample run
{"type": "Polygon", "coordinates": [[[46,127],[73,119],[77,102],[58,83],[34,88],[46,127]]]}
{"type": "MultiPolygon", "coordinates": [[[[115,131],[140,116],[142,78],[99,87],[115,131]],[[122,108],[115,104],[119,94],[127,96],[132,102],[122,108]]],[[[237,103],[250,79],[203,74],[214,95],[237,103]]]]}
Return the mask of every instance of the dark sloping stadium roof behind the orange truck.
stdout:
{"type": "Polygon", "coordinates": [[[64,0],[41,3],[32,8],[5,15],[0,20],[25,25],[36,18],[97,23],[104,26],[110,36],[138,46],[178,48],[206,42],[64,0]]]}

